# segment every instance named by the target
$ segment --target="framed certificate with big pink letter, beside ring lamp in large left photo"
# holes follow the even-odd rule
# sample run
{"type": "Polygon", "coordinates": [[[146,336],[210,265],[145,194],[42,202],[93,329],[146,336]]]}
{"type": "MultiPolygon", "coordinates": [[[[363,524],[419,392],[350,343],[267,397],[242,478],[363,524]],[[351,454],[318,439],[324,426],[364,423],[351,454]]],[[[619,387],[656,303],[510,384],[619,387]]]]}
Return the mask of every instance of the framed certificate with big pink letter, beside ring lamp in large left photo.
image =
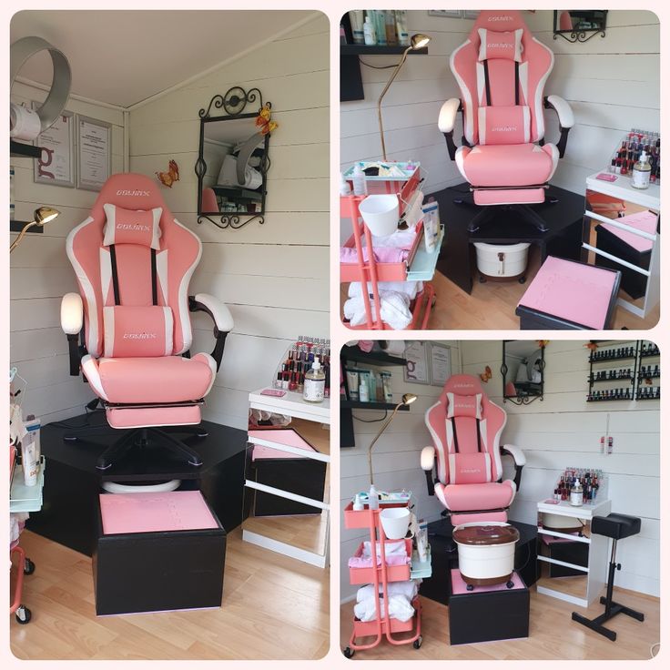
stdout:
{"type": "MultiPolygon", "coordinates": [[[[33,108],[39,103],[33,102],[33,108]]],[[[61,112],[53,126],[35,140],[42,152],[35,161],[36,183],[75,188],[75,115],[61,112]]]]}

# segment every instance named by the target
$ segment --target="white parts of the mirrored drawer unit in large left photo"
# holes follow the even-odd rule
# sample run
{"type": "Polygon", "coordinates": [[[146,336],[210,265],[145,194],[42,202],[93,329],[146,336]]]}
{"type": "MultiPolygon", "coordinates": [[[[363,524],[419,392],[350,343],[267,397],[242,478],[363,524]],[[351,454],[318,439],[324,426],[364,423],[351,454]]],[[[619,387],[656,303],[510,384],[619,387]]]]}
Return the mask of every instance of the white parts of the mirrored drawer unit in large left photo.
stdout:
{"type": "MultiPolygon", "coordinates": [[[[306,402],[302,399],[300,393],[294,391],[287,391],[286,395],[282,397],[261,395],[259,391],[252,391],[249,393],[249,407],[255,410],[271,411],[277,414],[285,414],[294,419],[303,419],[305,421],[314,421],[315,423],[326,424],[330,426],[330,399],[327,398],[323,402],[306,402]]],[[[290,428],[290,425],[289,425],[290,428]]],[[[272,440],[272,431],[267,431],[268,438],[252,437],[249,435],[249,442],[252,444],[259,444],[261,446],[276,449],[279,452],[288,452],[299,454],[301,458],[308,458],[315,461],[330,463],[330,450],[321,450],[320,452],[308,452],[305,450],[291,447],[287,444],[274,442],[272,440]],[[328,452],[325,452],[328,451],[328,452]]],[[[272,495],[277,495],[280,498],[286,498],[297,503],[310,505],[316,509],[321,510],[325,515],[326,533],[325,533],[325,549],[323,553],[310,552],[306,549],[294,546],[289,543],[281,542],[275,538],[268,537],[261,533],[255,533],[245,530],[244,524],[242,527],[242,539],[246,542],[257,544],[265,547],[273,552],[283,553],[291,558],[298,559],[304,563],[311,563],[319,567],[326,567],[329,563],[329,546],[330,546],[330,487],[329,487],[330,468],[326,471],[326,482],[323,488],[323,499],[314,500],[305,496],[284,491],[274,486],[268,486],[260,482],[245,479],[244,485],[249,489],[255,489],[272,495]]]]}

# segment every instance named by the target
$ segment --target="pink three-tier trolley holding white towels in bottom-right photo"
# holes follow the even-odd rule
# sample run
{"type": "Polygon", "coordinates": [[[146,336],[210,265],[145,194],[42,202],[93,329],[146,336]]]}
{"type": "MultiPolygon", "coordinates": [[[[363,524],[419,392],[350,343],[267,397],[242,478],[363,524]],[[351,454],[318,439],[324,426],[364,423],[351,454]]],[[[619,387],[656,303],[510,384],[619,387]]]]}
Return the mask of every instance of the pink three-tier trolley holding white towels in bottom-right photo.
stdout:
{"type": "MultiPolygon", "coordinates": [[[[379,510],[370,510],[367,508],[362,511],[353,510],[353,503],[349,503],[344,510],[345,528],[368,528],[370,530],[371,555],[377,555],[377,545],[379,545],[381,562],[375,565],[374,561],[371,567],[354,568],[350,567],[350,584],[373,584],[374,592],[381,594],[384,603],[389,602],[388,584],[391,582],[406,582],[409,579],[417,577],[428,577],[431,574],[430,563],[421,563],[422,570],[413,569],[412,565],[387,565],[385,543],[398,542],[397,540],[387,540],[384,529],[380,522],[380,512],[385,507],[406,507],[408,503],[383,503],[380,502],[379,510]],[[381,589],[380,589],[381,585],[381,589]]],[[[408,553],[411,555],[411,540],[405,540],[408,546],[408,553]]],[[[363,545],[356,553],[362,553],[363,545]]],[[[380,598],[375,599],[376,618],[374,621],[360,621],[354,618],[353,630],[349,646],[343,650],[347,658],[351,658],[357,651],[372,649],[381,643],[382,638],[391,645],[413,645],[415,649],[421,647],[421,599],[417,595],[411,602],[414,608],[414,615],[407,622],[394,619],[389,615],[389,607],[384,607],[384,614],[381,614],[380,598]],[[408,635],[394,637],[394,634],[405,633],[408,635]],[[357,639],[362,637],[373,637],[374,639],[366,644],[359,644],[357,639]]]]}

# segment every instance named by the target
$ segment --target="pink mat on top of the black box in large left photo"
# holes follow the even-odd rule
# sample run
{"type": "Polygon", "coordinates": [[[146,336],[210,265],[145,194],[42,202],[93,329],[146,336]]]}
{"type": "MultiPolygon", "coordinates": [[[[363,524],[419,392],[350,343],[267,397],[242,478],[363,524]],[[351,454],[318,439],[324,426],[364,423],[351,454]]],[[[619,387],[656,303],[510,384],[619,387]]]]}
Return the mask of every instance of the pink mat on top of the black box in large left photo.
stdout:
{"type": "Polygon", "coordinates": [[[102,493],[100,514],[106,535],[219,527],[199,491],[102,493]]]}

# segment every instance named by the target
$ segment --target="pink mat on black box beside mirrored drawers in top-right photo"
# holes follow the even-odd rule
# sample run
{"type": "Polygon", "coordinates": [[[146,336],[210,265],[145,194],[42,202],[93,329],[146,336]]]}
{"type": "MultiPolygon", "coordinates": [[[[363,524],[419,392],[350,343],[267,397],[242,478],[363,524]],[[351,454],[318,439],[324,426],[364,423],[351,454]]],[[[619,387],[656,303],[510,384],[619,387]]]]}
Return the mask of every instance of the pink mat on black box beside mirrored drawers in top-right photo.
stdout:
{"type": "Polygon", "coordinates": [[[519,305],[599,330],[604,327],[615,277],[612,270],[547,256],[519,305]]]}

